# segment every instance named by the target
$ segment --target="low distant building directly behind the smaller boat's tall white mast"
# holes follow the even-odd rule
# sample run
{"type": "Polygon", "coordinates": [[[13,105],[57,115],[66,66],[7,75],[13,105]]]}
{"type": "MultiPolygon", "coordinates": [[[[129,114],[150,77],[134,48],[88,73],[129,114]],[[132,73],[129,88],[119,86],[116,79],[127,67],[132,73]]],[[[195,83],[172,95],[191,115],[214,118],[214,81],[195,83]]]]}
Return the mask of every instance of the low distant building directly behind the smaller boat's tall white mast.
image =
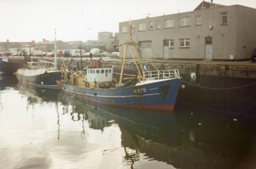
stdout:
{"type": "MultiPolygon", "coordinates": [[[[52,52],[54,50],[55,41],[42,41],[34,44],[34,50],[43,51],[43,52],[52,52]]],[[[63,42],[61,40],[56,41],[57,50],[72,50],[72,45],[69,43],[63,42]]]]}

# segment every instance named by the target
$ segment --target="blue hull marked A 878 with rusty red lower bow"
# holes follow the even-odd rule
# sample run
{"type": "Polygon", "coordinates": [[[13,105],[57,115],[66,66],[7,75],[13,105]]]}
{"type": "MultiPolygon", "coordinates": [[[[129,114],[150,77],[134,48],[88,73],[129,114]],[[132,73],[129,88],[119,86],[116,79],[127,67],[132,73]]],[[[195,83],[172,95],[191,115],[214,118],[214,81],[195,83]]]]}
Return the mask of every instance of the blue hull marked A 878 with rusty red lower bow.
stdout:
{"type": "Polygon", "coordinates": [[[60,89],[81,100],[113,106],[162,111],[174,110],[180,88],[179,79],[113,89],[83,88],[69,85],[65,81],[57,83],[60,89]]]}

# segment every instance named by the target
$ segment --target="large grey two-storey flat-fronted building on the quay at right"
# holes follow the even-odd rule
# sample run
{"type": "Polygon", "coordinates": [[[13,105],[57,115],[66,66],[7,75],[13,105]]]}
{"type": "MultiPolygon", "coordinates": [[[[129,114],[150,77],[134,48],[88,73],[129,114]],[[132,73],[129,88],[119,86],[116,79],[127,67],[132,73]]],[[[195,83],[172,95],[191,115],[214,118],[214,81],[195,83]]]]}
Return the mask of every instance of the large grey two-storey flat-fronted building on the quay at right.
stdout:
{"type": "MultiPolygon", "coordinates": [[[[143,57],[248,59],[256,46],[256,9],[203,1],[194,11],[132,20],[143,57]]],[[[119,23],[119,46],[129,41],[130,21],[119,23]]]]}

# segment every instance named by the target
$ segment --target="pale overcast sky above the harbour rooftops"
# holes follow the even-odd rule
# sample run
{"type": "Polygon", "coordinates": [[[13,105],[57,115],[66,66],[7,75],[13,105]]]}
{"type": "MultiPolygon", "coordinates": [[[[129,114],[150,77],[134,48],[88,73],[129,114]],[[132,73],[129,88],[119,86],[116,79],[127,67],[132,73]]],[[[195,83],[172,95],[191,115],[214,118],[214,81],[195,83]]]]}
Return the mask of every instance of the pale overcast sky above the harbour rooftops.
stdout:
{"type": "MultiPolygon", "coordinates": [[[[206,0],[209,2],[209,0],[206,0]]],[[[194,10],[201,0],[0,0],[0,41],[97,39],[118,32],[118,23],[194,10]]],[[[214,0],[222,5],[256,8],[255,0],[214,0]]]]}

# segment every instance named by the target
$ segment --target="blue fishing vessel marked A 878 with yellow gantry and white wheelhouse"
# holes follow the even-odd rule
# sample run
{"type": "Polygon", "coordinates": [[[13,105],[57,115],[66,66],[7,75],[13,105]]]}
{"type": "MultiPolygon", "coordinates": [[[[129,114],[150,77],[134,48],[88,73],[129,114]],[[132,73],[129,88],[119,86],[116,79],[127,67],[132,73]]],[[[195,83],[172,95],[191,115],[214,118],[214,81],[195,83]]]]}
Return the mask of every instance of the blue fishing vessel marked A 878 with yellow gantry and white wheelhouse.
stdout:
{"type": "Polygon", "coordinates": [[[113,67],[104,67],[99,60],[94,60],[83,71],[66,71],[65,79],[57,81],[58,87],[86,103],[173,111],[180,88],[179,70],[159,70],[154,66],[155,70],[146,71],[138,43],[131,39],[130,42],[123,43],[123,46],[119,82],[113,78],[113,67]],[[131,47],[135,49],[137,58],[133,56],[131,47]],[[130,75],[131,78],[123,78],[127,75],[123,73],[124,64],[131,63],[126,61],[126,54],[129,52],[133,58],[132,63],[137,67],[137,74],[130,75]]]}

